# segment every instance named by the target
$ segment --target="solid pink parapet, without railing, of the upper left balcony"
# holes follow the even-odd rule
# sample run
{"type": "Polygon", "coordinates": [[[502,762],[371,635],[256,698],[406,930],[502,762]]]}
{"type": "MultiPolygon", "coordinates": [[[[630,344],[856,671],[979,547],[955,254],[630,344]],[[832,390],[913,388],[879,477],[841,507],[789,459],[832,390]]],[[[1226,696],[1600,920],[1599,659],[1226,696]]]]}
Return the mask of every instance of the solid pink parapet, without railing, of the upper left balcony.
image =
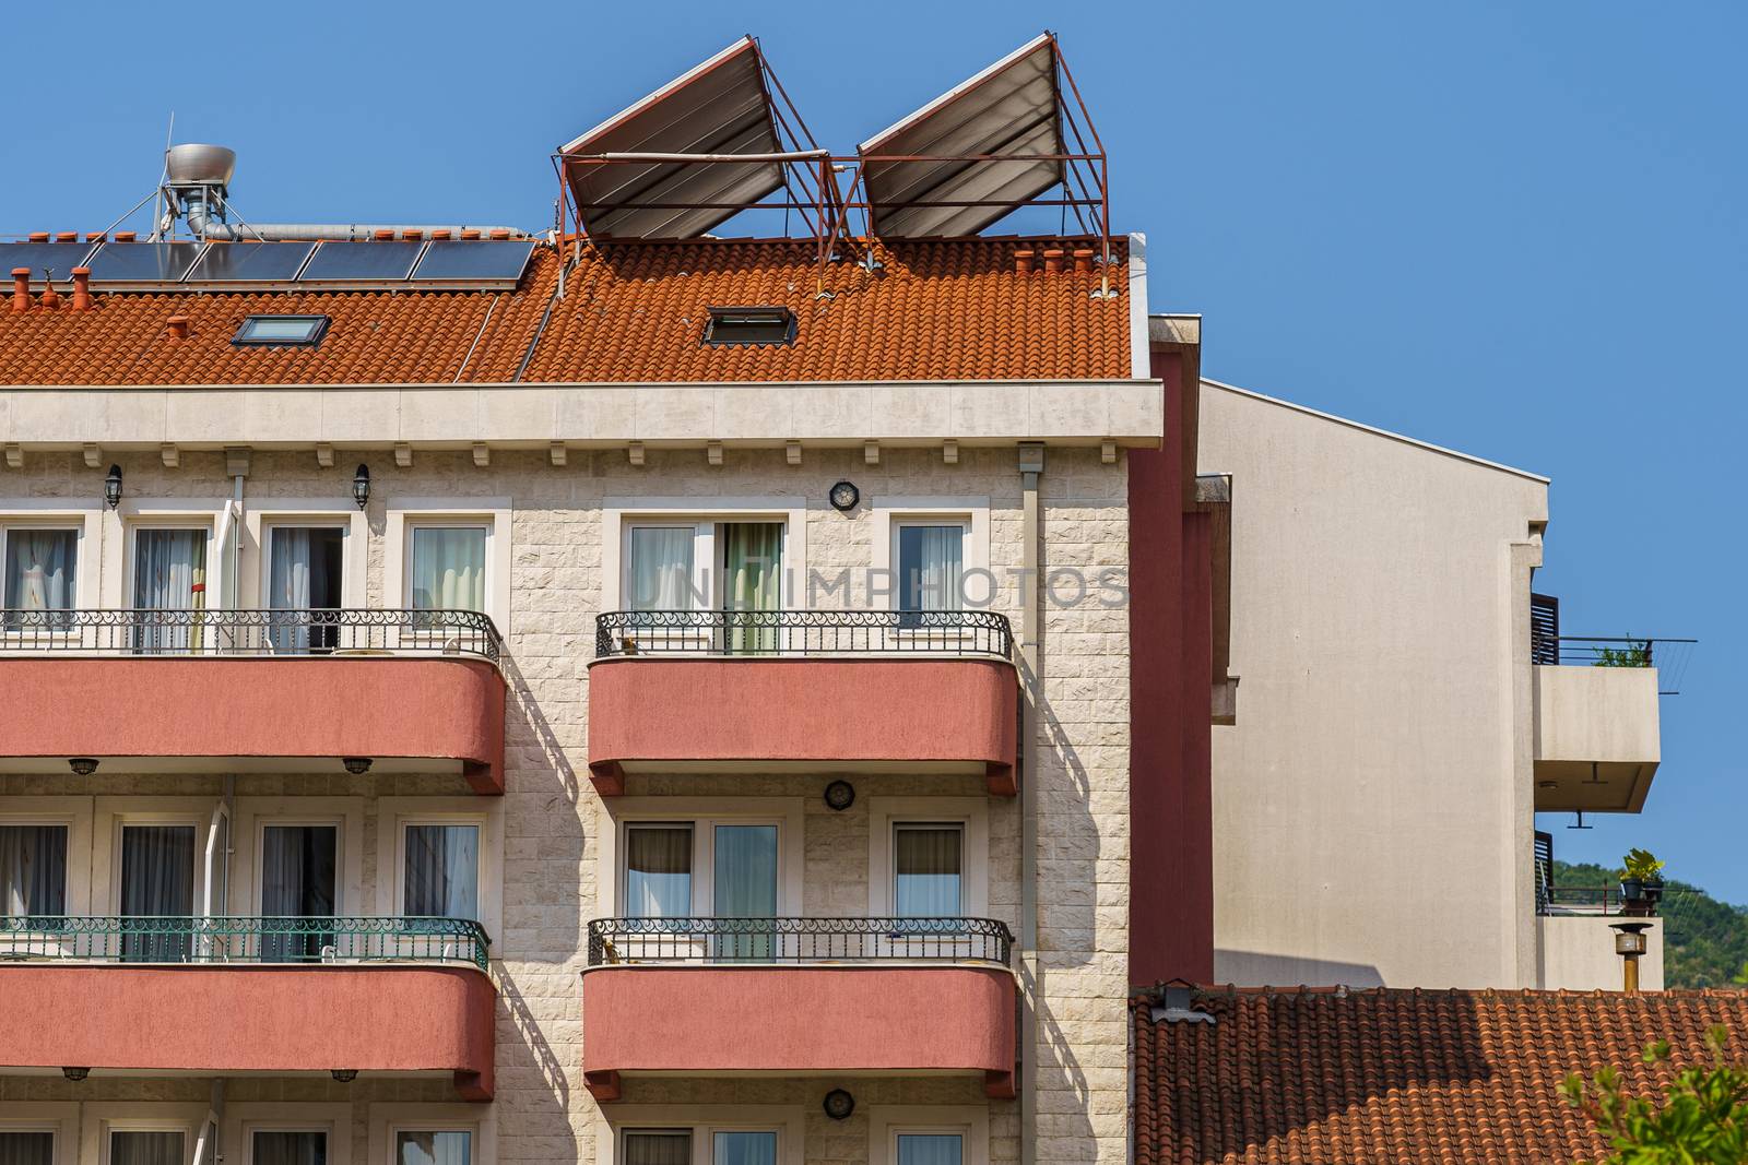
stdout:
{"type": "Polygon", "coordinates": [[[0,658],[0,770],[456,772],[503,791],[503,678],[434,657],[0,658]]]}

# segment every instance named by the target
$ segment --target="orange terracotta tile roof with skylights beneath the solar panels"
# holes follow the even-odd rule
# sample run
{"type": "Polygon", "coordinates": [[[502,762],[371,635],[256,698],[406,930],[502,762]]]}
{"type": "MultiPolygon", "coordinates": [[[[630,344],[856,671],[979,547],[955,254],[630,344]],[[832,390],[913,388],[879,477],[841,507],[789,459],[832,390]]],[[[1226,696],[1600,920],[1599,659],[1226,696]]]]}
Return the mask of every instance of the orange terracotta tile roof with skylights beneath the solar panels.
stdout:
{"type": "Polygon", "coordinates": [[[66,297],[24,313],[0,299],[0,384],[493,383],[516,379],[537,332],[523,381],[1127,376],[1124,269],[1110,300],[1091,297],[1098,274],[1014,272],[1016,250],[1045,246],[895,243],[879,274],[830,264],[830,299],[816,299],[813,243],[790,239],[603,245],[558,302],[549,248],[514,292],[96,292],[84,313],[66,297]],[[792,346],[701,344],[706,307],[776,304],[799,320],[792,346]],[[278,313],[334,321],[316,349],[231,346],[245,316],[278,313]],[[189,316],[184,341],[168,339],[177,314],[189,316]]]}

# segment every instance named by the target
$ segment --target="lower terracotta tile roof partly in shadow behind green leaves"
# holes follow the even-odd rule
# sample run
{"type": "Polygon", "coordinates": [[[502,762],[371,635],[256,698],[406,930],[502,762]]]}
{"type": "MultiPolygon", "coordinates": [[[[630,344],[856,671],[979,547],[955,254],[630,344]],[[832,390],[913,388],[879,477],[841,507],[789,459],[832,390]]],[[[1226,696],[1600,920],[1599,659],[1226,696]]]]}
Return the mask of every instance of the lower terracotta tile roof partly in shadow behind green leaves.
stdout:
{"type": "Polygon", "coordinates": [[[1654,1093],[1748,1037],[1748,992],[1197,989],[1213,1024],[1134,1003],[1138,1165],[1571,1162],[1606,1153],[1559,1081],[1620,1069],[1654,1093]],[[1645,1044],[1673,1058],[1645,1065],[1645,1044]]]}

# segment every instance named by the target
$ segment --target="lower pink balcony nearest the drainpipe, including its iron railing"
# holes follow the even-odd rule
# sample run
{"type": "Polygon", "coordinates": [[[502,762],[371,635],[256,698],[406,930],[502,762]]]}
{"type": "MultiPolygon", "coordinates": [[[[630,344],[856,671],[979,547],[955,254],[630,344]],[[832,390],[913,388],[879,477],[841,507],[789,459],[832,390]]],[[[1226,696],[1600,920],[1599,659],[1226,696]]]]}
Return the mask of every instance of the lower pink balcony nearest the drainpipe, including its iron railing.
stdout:
{"type": "Polygon", "coordinates": [[[584,1083],[914,1072],[1012,1097],[1010,947],[991,919],[598,919],[584,1083]]]}

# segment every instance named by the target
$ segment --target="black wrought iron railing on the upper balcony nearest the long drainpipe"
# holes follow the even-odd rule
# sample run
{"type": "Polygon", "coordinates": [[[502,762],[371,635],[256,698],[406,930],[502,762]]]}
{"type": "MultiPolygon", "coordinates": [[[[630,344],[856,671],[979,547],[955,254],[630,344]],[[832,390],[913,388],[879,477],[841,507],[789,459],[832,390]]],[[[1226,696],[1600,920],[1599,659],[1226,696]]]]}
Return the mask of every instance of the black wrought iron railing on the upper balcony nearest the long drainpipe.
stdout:
{"type": "Polygon", "coordinates": [[[1009,658],[995,611],[607,611],[594,655],[984,655],[1009,658]]]}

